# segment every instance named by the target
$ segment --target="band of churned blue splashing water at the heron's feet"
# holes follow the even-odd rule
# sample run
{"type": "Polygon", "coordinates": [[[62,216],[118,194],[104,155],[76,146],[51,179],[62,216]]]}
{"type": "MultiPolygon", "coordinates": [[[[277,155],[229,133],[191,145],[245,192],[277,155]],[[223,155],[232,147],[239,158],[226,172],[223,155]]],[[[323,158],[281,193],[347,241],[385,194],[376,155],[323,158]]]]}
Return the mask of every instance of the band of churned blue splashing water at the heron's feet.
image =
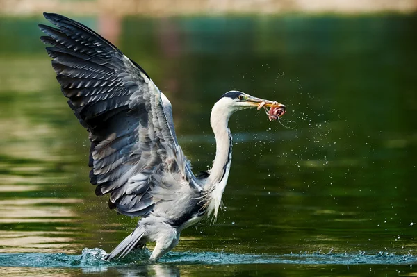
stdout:
{"type": "MultiPolygon", "coordinates": [[[[0,267],[81,267],[100,270],[104,267],[148,265],[149,251],[138,250],[121,260],[106,261],[103,249],[84,249],[81,255],[64,253],[0,253],[0,267]]],[[[298,253],[285,255],[255,255],[213,252],[171,252],[159,263],[172,265],[236,265],[236,264],[292,264],[292,265],[415,265],[417,257],[411,254],[379,252],[364,253],[298,253]]]]}

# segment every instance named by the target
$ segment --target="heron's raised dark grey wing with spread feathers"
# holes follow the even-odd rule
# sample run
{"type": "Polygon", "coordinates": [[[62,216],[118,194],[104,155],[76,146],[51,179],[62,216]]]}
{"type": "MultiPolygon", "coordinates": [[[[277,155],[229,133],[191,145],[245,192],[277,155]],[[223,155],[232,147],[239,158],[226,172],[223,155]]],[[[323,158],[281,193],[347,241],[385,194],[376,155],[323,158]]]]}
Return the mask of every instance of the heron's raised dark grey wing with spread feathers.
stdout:
{"type": "Polygon", "coordinates": [[[110,193],[109,207],[124,215],[144,216],[157,201],[169,200],[165,194],[179,190],[176,185],[194,186],[170,101],[145,71],[83,24],[44,17],[58,28],[40,24],[47,35],[40,39],[52,45],[47,52],[61,90],[90,135],[96,194],[110,193]]]}

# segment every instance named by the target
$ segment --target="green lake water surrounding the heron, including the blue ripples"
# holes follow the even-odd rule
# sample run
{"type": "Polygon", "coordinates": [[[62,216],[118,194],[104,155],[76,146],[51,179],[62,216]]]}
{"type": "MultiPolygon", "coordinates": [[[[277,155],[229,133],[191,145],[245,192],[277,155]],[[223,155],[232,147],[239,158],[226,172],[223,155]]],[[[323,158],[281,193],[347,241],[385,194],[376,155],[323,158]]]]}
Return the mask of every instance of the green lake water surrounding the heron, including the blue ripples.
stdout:
{"type": "MultiPolygon", "coordinates": [[[[97,19],[78,19],[105,35],[97,19]]],[[[123,19],[113,41],[172,102],[195,172],[214,158],[208,119],[228,90],[286,104],[293,127],[256,110],[231,117],[223,212],[184,230],[157,265],[146,253],[109,263],[100,250],[81,254],[110,252],[136,219],[108,210],[89,184],[87,133],[38,40],[44,19],[0,19],[0,272],[415,274],[416,19],[123,19]]]]}

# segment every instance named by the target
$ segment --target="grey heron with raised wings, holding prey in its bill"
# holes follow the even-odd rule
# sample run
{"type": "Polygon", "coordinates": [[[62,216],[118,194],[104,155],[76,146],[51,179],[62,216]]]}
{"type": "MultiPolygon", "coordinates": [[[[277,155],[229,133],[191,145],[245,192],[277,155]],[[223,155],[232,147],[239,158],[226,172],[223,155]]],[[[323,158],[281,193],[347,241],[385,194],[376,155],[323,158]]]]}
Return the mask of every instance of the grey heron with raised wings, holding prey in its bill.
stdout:
{"type": "Polygon", "coordinates": [[[231,165],[231,115],[263,106],[280,116],[286,107],[237,90],[220,96],[210,116],[213,166],[196,176],[177,141],[171,103],[145,70],[87,26],[55,13],[44,17],[54,26],[39,24],[40,40],[49,45],[60,89],[88,131],[95,194],[110,194],[110,209],[138,217],[106,260],[147,242],[156,242],[149,260],[158,260],[178,244],[182,230],[218,216],[231,165]]]}

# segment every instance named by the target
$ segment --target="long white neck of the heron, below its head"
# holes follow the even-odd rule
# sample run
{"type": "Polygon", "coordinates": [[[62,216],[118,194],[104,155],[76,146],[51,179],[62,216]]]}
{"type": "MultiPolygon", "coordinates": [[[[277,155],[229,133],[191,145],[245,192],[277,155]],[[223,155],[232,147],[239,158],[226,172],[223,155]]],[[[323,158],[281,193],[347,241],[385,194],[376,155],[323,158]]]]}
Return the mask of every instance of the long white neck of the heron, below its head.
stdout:
{"type": "Polygon", "coordinates": [[[208,215],[217,217],[222,205],[222,194],[227,184],[231,164],[231,133],[227,123],[231,116],[226,101],[218,101],[211,110],[210,124],[215,136],[215,158],[204,190],[207,194],[208,215]]]}

